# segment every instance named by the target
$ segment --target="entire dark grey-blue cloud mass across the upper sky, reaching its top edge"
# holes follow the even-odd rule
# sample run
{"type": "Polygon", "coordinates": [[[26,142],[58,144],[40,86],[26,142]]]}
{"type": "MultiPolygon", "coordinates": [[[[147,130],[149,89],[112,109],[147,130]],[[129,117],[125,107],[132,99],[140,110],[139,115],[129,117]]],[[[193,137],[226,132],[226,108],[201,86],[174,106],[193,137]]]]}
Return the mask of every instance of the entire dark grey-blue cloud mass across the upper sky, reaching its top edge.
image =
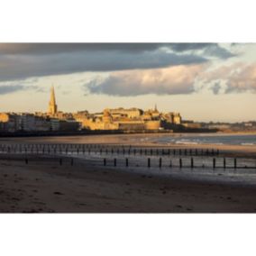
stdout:
{"type": "Polygon", "coordinates": [[[0,81],[86,71],[159,69],[230,58],[216,43],[4,43],[0,81]],[[198,54],[195,50],[204,50],[198,54]]]}

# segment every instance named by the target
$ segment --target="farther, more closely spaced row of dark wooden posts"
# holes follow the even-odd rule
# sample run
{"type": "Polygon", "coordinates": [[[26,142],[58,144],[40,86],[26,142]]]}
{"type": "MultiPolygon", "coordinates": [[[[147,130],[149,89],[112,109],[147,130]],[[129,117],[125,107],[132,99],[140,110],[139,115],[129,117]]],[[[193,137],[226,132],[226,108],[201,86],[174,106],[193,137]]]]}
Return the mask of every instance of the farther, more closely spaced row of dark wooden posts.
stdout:
{"type": "MultiPolygon", "coordinates": [[[[51,144],[32,144],[32,146],[27,146],[25,144],[23,145],[16,145],[16,146],[7,146],[7,145],[1,145],[0,146],[0,151],[2,152],[7,152],[7,153],[83,153],[85,154],[86,152],[88,154],[92,152],[96,152],[101,154],[133,154],[133,155],[194,155],[194,156],[215,156],[219,155],[220,151],[219,150],[203,150],[203,149],[146,149],[146,148],[133,148],[132,147],[103,147],[103,148],[96,148],[97,151],[93,151],[94,148],[91,147],[81,147],[78,146],[77,148],[74,148],[73,144],[72,146],[64,146],[65,144],[57,144],[58,146],[54,146],[51,144]],[[60,146],[59,146],[60,145],[60,146]]],[[[79,145],[79,144],[76,144],[79,145]]],[[[83,144],[85,145],[85,144],[83,144]]]]}

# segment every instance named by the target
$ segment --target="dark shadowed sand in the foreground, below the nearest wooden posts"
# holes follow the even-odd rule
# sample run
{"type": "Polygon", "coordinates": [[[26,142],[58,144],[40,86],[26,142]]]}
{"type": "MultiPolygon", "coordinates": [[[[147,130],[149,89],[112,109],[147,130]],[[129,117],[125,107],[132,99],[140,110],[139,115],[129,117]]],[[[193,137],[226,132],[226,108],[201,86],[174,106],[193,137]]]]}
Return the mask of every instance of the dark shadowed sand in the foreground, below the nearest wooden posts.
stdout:
{"type": "Polygon", "coordinates": [[[254,213],[256,186],[0,160],[1,213],[254,213]]]}

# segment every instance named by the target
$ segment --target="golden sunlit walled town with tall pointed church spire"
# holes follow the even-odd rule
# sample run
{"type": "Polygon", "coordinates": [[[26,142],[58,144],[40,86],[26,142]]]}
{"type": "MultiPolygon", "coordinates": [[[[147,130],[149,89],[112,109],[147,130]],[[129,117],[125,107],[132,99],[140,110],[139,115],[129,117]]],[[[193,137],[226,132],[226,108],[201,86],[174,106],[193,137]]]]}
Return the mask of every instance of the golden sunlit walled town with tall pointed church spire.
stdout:
{"type": "Polygon", "coordinates": [[[101,113],[90,114],[58,111],[54,87],[50,88],[48,112],[35,114],[0,113],[0,130],[5,132],[58,132],[88,130],[159,131],[172,130],[181,123],[179,113],[161,113],[157,105],[143,111],[140,108],[106,108],[101,113]]]}

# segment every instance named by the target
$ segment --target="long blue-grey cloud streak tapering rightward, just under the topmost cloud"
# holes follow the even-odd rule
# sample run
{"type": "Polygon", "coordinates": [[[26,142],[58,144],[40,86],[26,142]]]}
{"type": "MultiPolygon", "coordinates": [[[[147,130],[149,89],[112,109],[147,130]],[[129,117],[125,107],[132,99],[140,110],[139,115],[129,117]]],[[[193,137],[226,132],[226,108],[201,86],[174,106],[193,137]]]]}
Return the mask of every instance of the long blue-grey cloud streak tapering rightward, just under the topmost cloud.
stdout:
{"type": "MultiPolygon", "coordinates": [[[[0,59],[1,61],[1,59],[0,59]]],[[[206,62],[207,59],[192,55],[178,55],[162,50],[144,52],[112,52],[107,50],[73,52],[52,56],[5,57],[0,69],[0,80],[13,80],[85,71],[114,71],[125,69],[158,69],[177,65],[206,62]]]]}

